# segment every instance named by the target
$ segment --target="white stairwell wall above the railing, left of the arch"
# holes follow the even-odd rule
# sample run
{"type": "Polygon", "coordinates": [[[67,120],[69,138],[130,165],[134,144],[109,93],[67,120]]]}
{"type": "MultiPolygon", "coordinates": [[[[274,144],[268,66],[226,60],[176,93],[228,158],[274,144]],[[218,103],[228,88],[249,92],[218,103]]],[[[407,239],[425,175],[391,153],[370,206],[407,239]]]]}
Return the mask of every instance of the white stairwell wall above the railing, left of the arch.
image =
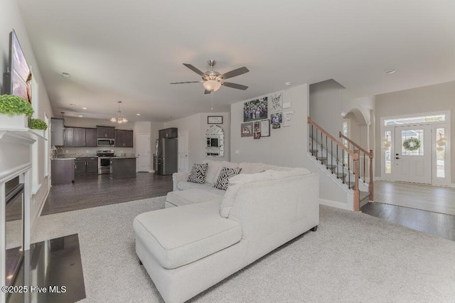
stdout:
{"type": "Polygon", "coordinates": [[[335,80],[311,84],[309,87],[309,116],[336,138],[343,127],[343,117],[341,117],[341,90],[343,89],[344,87],[335,80]]]}

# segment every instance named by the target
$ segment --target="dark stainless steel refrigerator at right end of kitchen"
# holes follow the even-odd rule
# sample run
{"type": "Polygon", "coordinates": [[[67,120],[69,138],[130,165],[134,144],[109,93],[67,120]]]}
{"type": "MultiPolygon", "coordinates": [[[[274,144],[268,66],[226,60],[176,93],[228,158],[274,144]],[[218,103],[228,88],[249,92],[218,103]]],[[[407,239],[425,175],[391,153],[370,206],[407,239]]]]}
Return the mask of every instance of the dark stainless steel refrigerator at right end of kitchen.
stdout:
{"type": "Polygon", "coordinates": [[[159,175],[171,175],[178,171],[178,139],[156,140],[154,170],[159,175]]]}

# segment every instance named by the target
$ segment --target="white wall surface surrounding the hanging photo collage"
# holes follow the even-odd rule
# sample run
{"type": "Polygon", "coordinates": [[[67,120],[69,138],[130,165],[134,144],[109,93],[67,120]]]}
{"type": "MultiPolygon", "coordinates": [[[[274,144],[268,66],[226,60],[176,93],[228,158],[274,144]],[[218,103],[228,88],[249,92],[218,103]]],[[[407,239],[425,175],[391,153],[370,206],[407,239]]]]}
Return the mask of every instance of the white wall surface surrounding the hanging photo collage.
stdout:
{"type": "Polygon", "coordinates": [[[284,111],[292,110],[294,115],[291,115],[289,127],[282,126],[279,129],[272,129],[271,126],[270,137],[262,137],[256,140],[253,137],[240,137],[240,125],[243,123],[243,104],[246,101],[249,100],[234,103],[230,107],[231,161],[237,163],[244,161],[264,162],[290,167],[306,166],[308,142],[306,117],[309,115],[309,85],[299,85],[283,91],[283,102],[291,102],[291,108],[284,111]],[[240,154],[236,154],[236,150],[240,154]]]}

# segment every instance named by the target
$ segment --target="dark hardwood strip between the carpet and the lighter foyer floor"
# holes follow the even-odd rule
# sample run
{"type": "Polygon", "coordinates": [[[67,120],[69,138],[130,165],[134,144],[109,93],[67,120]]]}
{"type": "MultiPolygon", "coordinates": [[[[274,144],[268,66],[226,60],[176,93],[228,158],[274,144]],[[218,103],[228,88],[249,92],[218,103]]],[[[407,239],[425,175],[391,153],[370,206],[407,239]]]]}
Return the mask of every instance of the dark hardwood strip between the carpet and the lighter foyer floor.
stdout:
{"type": "Polygon", "coordinates": [[[368,202],[360,211],[407,228],[455,241],[455,216],[378,202],[368,202]]]}

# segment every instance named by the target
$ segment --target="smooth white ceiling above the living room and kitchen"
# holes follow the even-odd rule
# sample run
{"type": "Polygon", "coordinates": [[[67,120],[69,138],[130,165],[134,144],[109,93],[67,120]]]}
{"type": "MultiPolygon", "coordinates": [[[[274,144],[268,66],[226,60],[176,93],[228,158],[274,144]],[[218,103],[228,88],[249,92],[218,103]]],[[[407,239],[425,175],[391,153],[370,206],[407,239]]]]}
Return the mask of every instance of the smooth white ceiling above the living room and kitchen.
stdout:
{"type": "Polygon", "coordinates": [[[168,121],[210,112],[182,63],[250,73],[214,112],[292,85],[334,79],[364,97],[455,80],[451,0],[18,0],[55,114],[168,121]],[[397,72],[386,75],[385,70],[397,72]],[[64,78],[62,72],[71,74],[64,78]],[[70,106],[70,104],[75,106],[70,106]],[[82,110],[87,107],[88,110],[82,110]],[[141,117],[136,114],[140,113],[141,117]],[[171,117],[170,117],[171,116],[171,117]]]}

